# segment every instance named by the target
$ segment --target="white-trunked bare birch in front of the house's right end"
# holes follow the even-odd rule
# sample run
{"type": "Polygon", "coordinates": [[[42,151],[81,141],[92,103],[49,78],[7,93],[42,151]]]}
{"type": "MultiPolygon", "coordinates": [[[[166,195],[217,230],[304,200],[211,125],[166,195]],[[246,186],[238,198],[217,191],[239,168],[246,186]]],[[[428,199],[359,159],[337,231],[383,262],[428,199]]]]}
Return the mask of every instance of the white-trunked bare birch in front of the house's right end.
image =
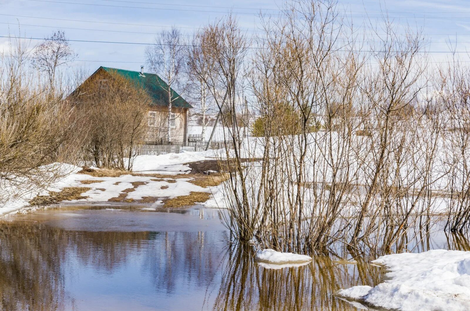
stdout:
{"type": "Polygon", "coordinates": [[[158,83],[167,94],[167,140],[169,143],[172,142],[172,104],[180,98],[180,95],[177,95],[173,89],[179,87],[180,92],[185,89],[185,87],[182,87],[182,76],[184,74],[183,67],[186,65],[185,52],[183,38],[180,31],[176,28],[172,28],[170,31],[163,31],[155,38],[155,44],[147,47],[145,50],[147,63],[149,64],[150,69],[165,80],[158,80],[158,83]]]}

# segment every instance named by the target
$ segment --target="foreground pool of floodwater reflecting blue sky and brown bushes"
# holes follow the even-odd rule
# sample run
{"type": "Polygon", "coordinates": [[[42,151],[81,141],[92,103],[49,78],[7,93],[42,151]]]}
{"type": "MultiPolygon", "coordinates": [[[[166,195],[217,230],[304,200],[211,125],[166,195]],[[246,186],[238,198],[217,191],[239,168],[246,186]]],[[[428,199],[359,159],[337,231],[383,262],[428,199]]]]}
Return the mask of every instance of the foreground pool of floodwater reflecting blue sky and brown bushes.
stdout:
{"type": "Polygon", "coordinates": [[[230,243],[221,211],[68,208],[0,222],[0,310],[359,310],[333,295],[376,285],[370,264],[314,257],[268,269],[230,243]]]}

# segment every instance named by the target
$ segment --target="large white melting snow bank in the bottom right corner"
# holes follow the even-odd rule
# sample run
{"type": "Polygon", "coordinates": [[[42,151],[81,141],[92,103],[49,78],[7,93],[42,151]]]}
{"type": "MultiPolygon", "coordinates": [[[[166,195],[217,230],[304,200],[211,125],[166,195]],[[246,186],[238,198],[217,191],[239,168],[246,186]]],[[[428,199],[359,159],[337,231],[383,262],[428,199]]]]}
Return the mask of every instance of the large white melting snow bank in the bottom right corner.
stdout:
{"type": "Polygon", "coordinates": [[[390,280],[337,295],[374,306],[408,310],[470,310],[470,251],[436,249],[379,257],[390,280]]]}

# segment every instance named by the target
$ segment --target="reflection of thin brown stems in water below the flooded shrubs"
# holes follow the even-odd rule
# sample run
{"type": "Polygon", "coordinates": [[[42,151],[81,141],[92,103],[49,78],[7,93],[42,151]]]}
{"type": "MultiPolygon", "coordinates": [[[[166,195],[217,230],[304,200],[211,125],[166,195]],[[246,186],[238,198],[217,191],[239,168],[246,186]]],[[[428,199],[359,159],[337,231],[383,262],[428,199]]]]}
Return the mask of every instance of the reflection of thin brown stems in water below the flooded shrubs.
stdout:
{"type": "Polygon", "coordinates": [[[355,310],[333,297],[339,288],[376,284],[380,272],[369,264],[337,264],[314,257],[295,268],[265,269],[250,248],[231,249],[212,310],[355,310]]]}

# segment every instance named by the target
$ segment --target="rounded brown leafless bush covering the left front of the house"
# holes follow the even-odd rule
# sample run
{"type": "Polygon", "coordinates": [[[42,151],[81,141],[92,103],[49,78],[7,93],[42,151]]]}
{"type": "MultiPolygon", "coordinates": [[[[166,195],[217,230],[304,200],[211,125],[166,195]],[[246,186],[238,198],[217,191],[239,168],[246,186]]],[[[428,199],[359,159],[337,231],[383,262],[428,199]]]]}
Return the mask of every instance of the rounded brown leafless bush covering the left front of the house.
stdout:
{"type": "Polygon", "coordinates": [[[84,137],[83,160],[96,166],[132,169],[134,147],[147,133],[151,99],[139,87],[117,73],[87,80],[72,94],[77,135],[84,137]]]}

